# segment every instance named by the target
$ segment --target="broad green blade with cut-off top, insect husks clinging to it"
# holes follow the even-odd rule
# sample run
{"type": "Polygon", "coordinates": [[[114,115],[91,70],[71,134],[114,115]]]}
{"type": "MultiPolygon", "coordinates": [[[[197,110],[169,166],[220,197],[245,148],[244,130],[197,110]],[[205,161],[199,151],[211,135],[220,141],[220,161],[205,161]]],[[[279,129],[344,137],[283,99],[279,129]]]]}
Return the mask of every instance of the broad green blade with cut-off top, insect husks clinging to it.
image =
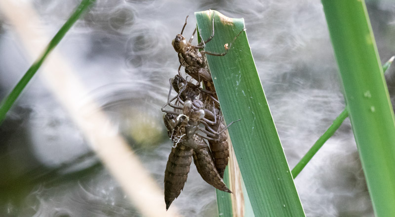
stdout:
{"type": "MultiPolygon", "coordinates": [[[[202,38],[212,30],[214,11],[195,13],[202,38]]],[[[215,11],[215,36],[205,51],[214,85],[229,128],[241,175],[255,217],[304,217],[293,179],[252,58],[243,19],[228,18],[215,11]]]]}

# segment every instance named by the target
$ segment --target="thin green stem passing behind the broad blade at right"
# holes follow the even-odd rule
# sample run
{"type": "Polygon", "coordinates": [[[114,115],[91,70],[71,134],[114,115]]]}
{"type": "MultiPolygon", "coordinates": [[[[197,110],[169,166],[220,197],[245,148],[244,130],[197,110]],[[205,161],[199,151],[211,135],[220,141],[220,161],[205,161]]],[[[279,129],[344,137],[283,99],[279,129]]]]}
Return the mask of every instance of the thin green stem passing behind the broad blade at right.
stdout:
{"type": "MultiPolygon", "coordinates": [[[[390,60],[388,60],[383,65],[383,71],[386,73],[387,69],[391,66],[391,63],[394,61],[395,56],[393,56],[390,60]]],[[[318,150],[323,146],[323,144],[335,133],[335,131],[340,127],[346,118],[349,117],[349,112],[347,108],[345,108],[342,113],[333,121],[333,124],[318,138],[316,143],[310,148],[310,150],[302,157],[302,159],[296,164],[296,166],[292,169],[292,177],[295,179],[296,176],[305,168],[306,164],[313,158],[314,155],[318,152],[318,150]]]]}

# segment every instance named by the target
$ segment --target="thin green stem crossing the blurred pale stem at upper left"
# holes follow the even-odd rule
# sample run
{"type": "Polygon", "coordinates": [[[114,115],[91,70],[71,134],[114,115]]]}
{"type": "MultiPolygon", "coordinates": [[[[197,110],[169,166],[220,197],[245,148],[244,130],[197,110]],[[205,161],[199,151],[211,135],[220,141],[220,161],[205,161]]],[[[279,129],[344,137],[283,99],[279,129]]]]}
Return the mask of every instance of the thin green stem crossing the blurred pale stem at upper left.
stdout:
{"type": "Polygon", "coordinates": [[[60,30],[55,34],[52,40],[48,43],[42,55],[33,63],[32,66],[28,69],[28,71],[23,75],[21,80],[15,86],[15,88],[6,96],[0,103],[0,124],[5,118],[6,113],[14,104],[15,100],[21,94],[23,89],[29,83],[30,79],[36,74],[37,70],[39,70],[42,62],[44,62],[45,58],[48,54],[59,44],[60,40],[65,36],[67,31],[76,23],[76,21],[81,16],[82,12],[86,10],[86,8],[92,4],[95,0],[82,0],[74,13],[70,16],[70,18],[66,21],[66,23],[60,28],[60,30]]]}

